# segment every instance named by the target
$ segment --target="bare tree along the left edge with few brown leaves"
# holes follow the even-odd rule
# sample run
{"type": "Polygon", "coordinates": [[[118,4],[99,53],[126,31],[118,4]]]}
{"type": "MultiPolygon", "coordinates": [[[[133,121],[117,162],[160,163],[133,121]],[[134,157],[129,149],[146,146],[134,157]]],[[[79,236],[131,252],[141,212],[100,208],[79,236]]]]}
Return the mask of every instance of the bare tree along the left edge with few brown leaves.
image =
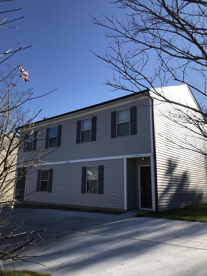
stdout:
{"type": "MultiPolygon", "coordinates": [[[[13,0],[4,0],[13,1],[13,0]]],[[[2,3],[0,3],[2,4],[2,3]]],[[[8,10],[1,12],[4,13],[14,12],[16,10],[8,10]]],[[[19,28],[10,26],[14,21],[20,20],[23,17],[11,19],[3,18],[0,23],[1,28],[19,28]]],[[[8,59],[31,46],[20,47],[21,41],[16,43],[10,49],[0,54],[0,213],[2,208],[9,206],[11,212],[14,208],[14,185],[22,177],[21,173],[17,173],[18,168],[20,171],[29,170],[31,167],[39,163],[41,158],[46,154],[43,149],[36,147],[37,133],[34,129],[35,119],[41,110],[31,112],[30,109],[25,108],[25,104],[31,100],[37,99],[34,90],[26,88],[22,91],[18,89],[20,81],[24,81],[28,85],[30,79],[28,78],[28,71],[24,70],[21,65],[11,67],[5,66],[8,59]],[[20,135],[21,129],[21,135],[20,135]],[[32,145],[32,148],[31,148],[32,145]],[[21,160],[17,159],[20,151],[29,150],[24,154],[21,160]]],[[[45,93],[39,97],[50,94],[52,91],[45,93]]],[[[38,231],[29,231],[23,229],[26,222],[15,223],[13,214],[8,215],[1,213],[0,217],[0,264],[2,261],[31,261],[35,256],[28,256],[25,250],[30,245],[43,245],[43,239],[40,234],[45,232],[45,229],[38,231]],[[27,238],[25,238],[27,237],[27,238]],[[39,243],[39,239],[41,243],[39,243]],[[26,241],[25,241],[26,240],[26,241]]],[[[3,267],[2,267],[3,268],[3,267]]]]}

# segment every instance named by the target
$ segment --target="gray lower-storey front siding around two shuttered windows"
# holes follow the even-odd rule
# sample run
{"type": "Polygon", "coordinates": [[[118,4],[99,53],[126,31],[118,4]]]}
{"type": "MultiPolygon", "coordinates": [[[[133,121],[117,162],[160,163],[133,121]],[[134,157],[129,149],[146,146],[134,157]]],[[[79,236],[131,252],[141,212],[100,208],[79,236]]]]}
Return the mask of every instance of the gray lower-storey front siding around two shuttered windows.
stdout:
{"type": "Polygon", "coordinates": [[[48,165],[30,170],[25,200],[124,209],[124,160],[48,165]],[[81,193],[82,167],[99,165],[104,166],[103,194],[81,193]],[[52,192],[36,192],[38,169],[53,169],[52,192]],[[32,195],[33,192],[35,195],[32,195]]]}

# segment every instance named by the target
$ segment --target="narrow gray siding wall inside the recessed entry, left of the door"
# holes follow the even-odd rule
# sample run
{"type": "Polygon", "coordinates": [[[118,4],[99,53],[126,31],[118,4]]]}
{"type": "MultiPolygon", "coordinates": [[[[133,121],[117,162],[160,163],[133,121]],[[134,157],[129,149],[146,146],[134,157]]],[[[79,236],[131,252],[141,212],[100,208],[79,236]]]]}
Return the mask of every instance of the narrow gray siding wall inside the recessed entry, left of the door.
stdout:
{"type": "Polygon", "coordinates": [[[127,159],[127,207],[137,208],[136,158],[127,159]]]}

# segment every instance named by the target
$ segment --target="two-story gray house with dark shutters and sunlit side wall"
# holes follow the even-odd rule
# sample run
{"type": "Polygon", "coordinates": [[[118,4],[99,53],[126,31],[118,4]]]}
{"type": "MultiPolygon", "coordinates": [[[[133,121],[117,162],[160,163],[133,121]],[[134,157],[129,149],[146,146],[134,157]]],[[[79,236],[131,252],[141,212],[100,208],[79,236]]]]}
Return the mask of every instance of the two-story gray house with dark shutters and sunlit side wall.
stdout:
{"type": "MultiPolygon", "coordinates": [[[[159,91],[198,108],[186,85],[159,91]]],[[[36,147],[47,154],[24,178],[24,200],[154,211],[206,202],[206,159],[186,137],[203,150],[206,143],[169,118],[174,105],[152,96],[146,90],[36,122],[18,158],[36,147]]]]}

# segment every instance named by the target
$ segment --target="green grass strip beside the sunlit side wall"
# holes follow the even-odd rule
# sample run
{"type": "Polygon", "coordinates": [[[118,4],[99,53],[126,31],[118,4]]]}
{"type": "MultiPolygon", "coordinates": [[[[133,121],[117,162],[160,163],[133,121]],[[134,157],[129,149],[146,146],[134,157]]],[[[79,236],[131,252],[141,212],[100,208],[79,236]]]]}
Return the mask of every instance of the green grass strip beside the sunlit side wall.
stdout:
{"type": "Polygon", "coordinates": [[[156,217],[162,219],[177,219],[181,221],[207,222],[207,203],[171,209],[161,212],[137,214],[137,217],[156,217]]]}

